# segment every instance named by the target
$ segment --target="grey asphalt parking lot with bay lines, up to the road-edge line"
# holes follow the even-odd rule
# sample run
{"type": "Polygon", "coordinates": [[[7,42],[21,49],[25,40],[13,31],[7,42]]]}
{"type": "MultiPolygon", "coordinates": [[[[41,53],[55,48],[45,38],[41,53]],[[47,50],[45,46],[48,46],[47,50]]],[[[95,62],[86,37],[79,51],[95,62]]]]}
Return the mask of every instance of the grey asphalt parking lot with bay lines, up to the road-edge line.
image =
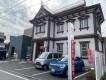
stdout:
{"type": "MultiPolygon", "coordinates": [[[[34,65],[27,62],[2,61],[0,70],[22,76],[28,80],[67,80],[62,76],[53,76],[49,71],[38,70],[34,65]]],[[[76,80],[83,80],[81,77],[76,80]]]]}

